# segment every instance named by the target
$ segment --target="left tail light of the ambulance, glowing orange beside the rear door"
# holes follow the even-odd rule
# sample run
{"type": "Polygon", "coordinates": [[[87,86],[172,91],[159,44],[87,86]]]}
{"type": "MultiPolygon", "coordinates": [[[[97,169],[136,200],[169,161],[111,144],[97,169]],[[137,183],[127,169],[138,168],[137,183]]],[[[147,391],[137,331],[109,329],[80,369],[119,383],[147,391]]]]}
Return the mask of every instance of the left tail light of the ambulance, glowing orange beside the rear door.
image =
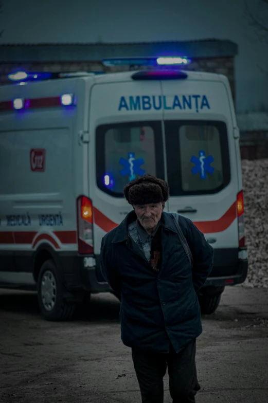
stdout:
{"type": "Polygon", "coordinates": [[[77,198],[78,252],[93,254],[93,205],[85,196],[77,198]]]}

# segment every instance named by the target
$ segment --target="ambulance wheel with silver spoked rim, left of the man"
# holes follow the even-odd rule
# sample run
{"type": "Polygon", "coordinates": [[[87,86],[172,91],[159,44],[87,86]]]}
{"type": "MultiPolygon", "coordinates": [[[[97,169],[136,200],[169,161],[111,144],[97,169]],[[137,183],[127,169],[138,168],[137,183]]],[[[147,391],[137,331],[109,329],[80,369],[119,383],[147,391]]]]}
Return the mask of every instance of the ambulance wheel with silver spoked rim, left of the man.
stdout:
{"type": "Polygon", "coordinates": [[[52,260],[43,263],[37,288],[39,307],[46,320],[72,319],[75,303],[64,300],[61,274],[52,260]]]}

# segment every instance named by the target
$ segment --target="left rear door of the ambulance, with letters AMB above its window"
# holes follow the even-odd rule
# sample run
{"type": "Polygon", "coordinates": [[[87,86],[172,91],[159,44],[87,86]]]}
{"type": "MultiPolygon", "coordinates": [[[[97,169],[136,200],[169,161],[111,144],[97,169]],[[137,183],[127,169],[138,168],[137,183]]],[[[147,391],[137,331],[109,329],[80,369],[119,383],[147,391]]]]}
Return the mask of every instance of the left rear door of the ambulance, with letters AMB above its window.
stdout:
{"type": "Polygon", "coordinates": [[[97,257],[102,237],[132,210],[124,186],[143,174],[164,177],[162,110],[152,107],[153,96],[160,97],[159,81],[103,83],[92,89],[89,169],[97,257]]]}

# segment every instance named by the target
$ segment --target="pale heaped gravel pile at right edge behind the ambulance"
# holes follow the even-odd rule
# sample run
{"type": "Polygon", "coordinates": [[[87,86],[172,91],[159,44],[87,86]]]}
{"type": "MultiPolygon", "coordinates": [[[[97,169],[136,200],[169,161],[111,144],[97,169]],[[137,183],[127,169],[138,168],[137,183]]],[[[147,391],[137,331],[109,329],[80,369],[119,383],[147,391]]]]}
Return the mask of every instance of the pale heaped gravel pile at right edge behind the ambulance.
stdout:
{"type": "Polygon", "coordinates": [[[242,160],[248,274],[243,287],[268,288],[268,159],[242,160]]]}

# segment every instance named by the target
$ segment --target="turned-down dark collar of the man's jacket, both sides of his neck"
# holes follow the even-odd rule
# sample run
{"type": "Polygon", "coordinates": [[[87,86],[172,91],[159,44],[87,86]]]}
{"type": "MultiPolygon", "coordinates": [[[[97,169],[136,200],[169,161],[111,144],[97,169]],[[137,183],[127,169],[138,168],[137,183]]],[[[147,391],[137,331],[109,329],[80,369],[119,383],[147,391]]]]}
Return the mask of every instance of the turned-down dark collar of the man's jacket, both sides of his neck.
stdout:
{"type": "MultiPolygon", "coordinates": [[[[124,242],[127,241],[128,236],[129,236],[129,231],[128,231],[128,226],[130,223],[133,223],[136,221],[137,215],[135,214],[135,211],[132,210],[126,218],[123,219],[121,224],[116,228],[115,235],[113,237],[112,243],[119,243],[119,242],[124,242]]],[[[163,220],[163,227],[164,230],[171,230],[173,232],[177,232],[176,226],[174,224],[172,215],[169,213],[162,213],[162,220],[163,220]]]]}

